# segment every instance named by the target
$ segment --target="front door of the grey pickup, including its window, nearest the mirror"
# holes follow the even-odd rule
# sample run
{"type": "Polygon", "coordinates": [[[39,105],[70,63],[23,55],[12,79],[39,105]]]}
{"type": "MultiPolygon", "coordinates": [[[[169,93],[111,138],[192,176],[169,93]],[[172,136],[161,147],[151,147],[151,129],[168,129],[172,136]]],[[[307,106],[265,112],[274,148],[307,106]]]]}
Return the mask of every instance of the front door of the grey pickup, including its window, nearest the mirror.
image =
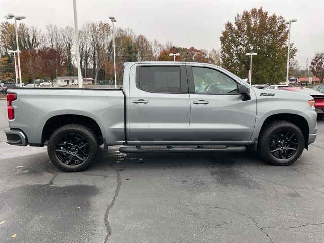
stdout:
{"type": "Polygon", "coordinates": [[[215,144],[247,143],[256,118],[256,97],[242,101],[240,85],[221,70],[188,66],[190,93],[190,141],[215,144]]]}

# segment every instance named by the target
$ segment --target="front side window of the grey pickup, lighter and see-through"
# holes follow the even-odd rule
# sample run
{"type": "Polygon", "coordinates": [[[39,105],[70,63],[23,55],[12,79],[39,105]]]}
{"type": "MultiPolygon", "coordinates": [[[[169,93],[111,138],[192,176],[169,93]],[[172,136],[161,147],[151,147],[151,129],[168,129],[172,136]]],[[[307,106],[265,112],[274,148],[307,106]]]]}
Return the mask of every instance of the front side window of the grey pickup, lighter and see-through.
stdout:
{"type": "Polygon", "coordinates": [[[225,74],[205,67],[192,67],[195,93],[237,94],[237,83],[225,74]]]}

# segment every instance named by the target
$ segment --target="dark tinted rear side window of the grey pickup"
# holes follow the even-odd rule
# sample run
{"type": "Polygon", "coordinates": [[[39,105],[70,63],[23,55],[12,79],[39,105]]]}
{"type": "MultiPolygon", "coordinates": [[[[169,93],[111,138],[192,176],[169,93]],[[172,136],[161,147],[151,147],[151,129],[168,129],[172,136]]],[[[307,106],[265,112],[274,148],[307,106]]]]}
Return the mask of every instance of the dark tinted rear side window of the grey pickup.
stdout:
{"type": "Polygon", "coordinates": [[[155,93],[180,93],[180,67],[142,66],[138,88],[155,93]]]}

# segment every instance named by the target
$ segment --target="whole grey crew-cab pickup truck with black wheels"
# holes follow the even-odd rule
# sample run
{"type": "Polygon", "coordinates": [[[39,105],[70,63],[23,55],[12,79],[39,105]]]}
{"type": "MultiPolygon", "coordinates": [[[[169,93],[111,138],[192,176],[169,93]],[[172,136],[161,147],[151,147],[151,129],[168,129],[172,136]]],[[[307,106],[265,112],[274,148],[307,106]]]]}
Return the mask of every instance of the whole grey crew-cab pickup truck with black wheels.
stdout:
{"type": "Polygon", "coordinates": [[[48,146],[52,163],[80,171],[98,148],[124,153],[259,151],[294,163],[317,134],[311,96],[251,87],[215,65],[124,64],[123,89],[12,88],[7,143],[48,146]]]}

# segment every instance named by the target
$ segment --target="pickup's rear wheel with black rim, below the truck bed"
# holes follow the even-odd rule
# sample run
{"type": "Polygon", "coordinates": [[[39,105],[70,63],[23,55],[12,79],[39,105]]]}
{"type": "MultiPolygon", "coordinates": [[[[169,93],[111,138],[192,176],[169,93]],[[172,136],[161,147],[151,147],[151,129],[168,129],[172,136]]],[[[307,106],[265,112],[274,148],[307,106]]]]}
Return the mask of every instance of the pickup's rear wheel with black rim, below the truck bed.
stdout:
{"type": "Polygon", "coordinates": [[[93,163],[98,148],[98,139],[92,130],[79,124],[67,124],[51,135],[47,151],[57,168],[76,172],[93,163]]]}

